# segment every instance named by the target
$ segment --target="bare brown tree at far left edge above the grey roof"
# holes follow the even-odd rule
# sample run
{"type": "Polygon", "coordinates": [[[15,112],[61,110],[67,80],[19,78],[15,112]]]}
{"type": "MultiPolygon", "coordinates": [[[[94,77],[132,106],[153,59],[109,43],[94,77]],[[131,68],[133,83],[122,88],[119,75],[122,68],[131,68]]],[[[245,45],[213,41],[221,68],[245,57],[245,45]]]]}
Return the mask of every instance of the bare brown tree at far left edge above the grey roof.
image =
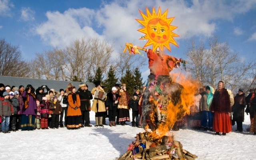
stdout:
{"type": "Polygon", "coordinates": [[[28,77],[28,72],[28,65],[18,46],[12,46],[5,39],[0,39],[0,75],[28,77]]]}

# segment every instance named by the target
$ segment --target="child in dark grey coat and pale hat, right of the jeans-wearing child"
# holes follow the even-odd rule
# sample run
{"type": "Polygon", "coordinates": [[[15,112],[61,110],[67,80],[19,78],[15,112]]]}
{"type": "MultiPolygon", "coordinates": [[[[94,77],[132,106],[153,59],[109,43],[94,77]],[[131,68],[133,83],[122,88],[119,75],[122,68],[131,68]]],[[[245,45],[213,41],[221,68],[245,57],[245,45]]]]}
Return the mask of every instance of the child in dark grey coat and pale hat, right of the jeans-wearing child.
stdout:
{"type": "Polygon", "coordinates": [[[14,114],[10,117],[11,126],[9,127],[10,130],[13,132],[16,132],[16,115],[17,115],[17,109],[19,106],[19,101],[17,99],[18,96],[14,94],[14,92],[9,92],[10,95],[10,102],[12,103],[14,114]]]}

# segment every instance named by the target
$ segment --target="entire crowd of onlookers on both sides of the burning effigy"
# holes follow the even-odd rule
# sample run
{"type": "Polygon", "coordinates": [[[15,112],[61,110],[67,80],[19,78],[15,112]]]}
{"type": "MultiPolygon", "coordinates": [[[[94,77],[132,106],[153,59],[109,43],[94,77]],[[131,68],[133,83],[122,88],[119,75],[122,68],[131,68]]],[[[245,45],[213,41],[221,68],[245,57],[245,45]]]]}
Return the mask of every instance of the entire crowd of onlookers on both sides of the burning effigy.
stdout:
{"type": "MultiPolygon", "coordinates": [[[[130,121],[132,127],[141,127],[142,97],[146,87],[135,90],[130,96],[126,84],[115,84],[109,93],[104,91],[100,81],[94,84],[95,87],[89,91],[84,82],[80,83],[78,90],[72,83],[68,83],[67,88],[59,92],[46,85],[35,90],[31,85],[10,87],[0,84],[0,131],[10,133],[17,130],[92,127],[91,110],[95,112],[94,127],[124,126],[130,121]],[[106,124],[107,117],[109,124],[106,124]]],[[[214,135],[225,136],[232,131],[231,125],[235,123],[236,131],[243,132],[242,122],[246,112],[250,114],[250,132],[256,134],[255,92],[255,89],[250,89],[250,94],[246,96],[244,89],[240,88],[234,97],[230,90],[224,88],[222,81],[218,82],[215,92],[211,86],[206,86],[195,94],[190,115],[184,117],[185,124],[203,127],[206,131],[216,132],[214,135]]]]}

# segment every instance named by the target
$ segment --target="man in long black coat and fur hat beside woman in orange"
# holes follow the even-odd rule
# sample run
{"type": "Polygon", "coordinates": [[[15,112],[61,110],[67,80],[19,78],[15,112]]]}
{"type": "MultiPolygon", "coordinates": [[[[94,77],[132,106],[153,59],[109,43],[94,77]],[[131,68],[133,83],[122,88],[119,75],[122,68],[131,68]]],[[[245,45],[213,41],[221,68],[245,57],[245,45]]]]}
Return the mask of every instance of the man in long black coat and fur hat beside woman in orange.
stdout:
{"type": "Polygon", "coordinates": [[[80,110],[82,113],[82,127],[91,127],[90,124],[90,100],[92,100],[91,91],[88,91],[88,86],[84,82],[81,82],[79,85],[79,89],[77,90],[77,94],[80,98],[80,110]],[[84,125],[84,126],[83,126],[84,125]]]}

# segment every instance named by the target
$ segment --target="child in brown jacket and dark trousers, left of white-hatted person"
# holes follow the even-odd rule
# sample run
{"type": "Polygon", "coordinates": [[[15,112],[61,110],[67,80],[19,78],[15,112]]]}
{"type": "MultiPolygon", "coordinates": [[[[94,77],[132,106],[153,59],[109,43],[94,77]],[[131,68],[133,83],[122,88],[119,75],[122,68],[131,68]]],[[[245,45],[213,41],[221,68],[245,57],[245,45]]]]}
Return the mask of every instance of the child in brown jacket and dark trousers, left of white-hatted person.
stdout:
{"type": "Polygon", "coordinates": [[[52,110],[52,120],[50,123],[50,128],[55,129],[59,128],[59,119],[60,119],[60,113],[62,111],[60,101],[57,99],[57,97],[53,97],[52,101],[50,101],[50,110],[52,110]]]}

